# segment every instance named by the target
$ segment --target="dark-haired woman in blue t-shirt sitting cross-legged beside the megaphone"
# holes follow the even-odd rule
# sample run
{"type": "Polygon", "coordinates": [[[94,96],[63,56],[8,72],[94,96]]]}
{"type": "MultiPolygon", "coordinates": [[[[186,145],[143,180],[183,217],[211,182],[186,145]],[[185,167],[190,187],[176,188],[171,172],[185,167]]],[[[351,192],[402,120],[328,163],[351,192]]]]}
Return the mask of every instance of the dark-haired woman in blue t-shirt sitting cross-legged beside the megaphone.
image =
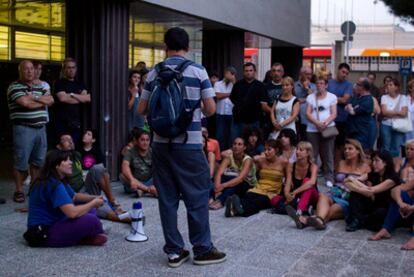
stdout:
{"type": "Polygon", "coordinates": [[[24,234],[30,246],[103,245],[107,241],[95,215],[103,198],[75,193],[64,183],[72,173],[69,155],[61,150],[48,152],[40,177],[30,188],[28,230],[24,234]]]}

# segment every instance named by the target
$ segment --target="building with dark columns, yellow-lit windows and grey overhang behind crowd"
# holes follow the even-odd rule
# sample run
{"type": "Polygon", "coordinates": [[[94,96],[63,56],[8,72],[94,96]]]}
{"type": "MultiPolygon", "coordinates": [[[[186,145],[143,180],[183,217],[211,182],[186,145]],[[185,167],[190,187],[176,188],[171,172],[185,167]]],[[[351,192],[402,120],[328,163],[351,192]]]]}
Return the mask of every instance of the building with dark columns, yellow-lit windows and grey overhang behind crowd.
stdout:
{"type": "MultiPolygon", "coordinates": [[[[2,0],[0,1],[0,136],[10,145],[5,91],[22,59],[45,63],[43,79],[58,79],[66,56],[78,61],[78,78],[91,93],[87,125],[99,131],[107,165],[116,178],[127,136],[128,70],[165,58],[163,34],[180,26],[190,35],[188,57],[208,71],[243,62],[258,65],[259,78],[272,62],[297,76],[310,42],[309,0],[2,0]],[[247,57],[247,54],[248,57],[247,57]]],[[[53,87],[53,85],[52,85],[53,87]]],[[[53,115],[52,115],[53,116],[53,115]]]]}

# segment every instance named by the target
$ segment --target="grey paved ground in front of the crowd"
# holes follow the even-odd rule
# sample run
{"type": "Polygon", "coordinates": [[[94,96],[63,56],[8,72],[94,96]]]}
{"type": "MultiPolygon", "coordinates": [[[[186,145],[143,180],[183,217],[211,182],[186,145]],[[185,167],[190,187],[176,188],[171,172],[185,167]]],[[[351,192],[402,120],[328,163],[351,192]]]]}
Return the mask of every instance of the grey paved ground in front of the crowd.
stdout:
{"type": "MultiPolygon", "coordinates": [[[[0,183],[0,197],[10,199],[12,182],[0,183]]],[[[114,191],[124,207],[137,199],[114,191]]],[[[407,230],[382,242],[369,242],[368,231],[346,233],[342,221],[326,231],[297,230],[287,216],[261,212],[249,218],[225,218],[223,210],[211,212],[215,245],[228,254],[225,263],[178,269],[166,266],[156,199],[142,198],[149,240],[127,242],[126,224],[104,221],[109,241],[103,247],[79,246],[33,249],[22,234],[26,214],[14,211],[8,199],[0,205],[0,276],[414,276],[414,252],[399,250],[409,238],[407,230]]],[[[188,248],[185,208],[179,209],[179,226],[188,248]]]]}

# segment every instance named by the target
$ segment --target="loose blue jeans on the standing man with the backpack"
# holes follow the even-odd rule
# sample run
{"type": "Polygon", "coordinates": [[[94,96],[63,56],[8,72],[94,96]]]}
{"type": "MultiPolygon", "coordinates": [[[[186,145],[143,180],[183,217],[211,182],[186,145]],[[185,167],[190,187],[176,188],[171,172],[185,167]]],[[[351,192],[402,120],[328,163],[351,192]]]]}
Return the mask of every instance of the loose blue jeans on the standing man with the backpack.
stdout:
{"type": "Polygon", "coordinates": [[[187,208],[190,242],[194,256],[208,252],[211,242],[208,199],[210,171],[202,150],[170,149],[168,144],[154,144],[153,178],[165,238],[164,252],[179,254],[184,249],[177,227],[180,195],[187,208]]]}

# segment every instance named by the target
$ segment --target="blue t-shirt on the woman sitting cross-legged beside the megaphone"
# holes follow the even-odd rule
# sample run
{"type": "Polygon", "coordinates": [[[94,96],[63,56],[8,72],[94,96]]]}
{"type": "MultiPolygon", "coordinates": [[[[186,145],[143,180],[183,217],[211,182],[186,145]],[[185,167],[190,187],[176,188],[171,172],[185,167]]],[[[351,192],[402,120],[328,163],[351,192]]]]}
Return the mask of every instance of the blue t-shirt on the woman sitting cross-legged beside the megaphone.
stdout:
{"type": "Polygon", "coordinates": [[[30,192],[27,226],[51,226],[64,218],[65,214],[59,207],[73,203],[74,195],[75,192],[69,185],[54,178],[50,178],[46,185],[36,185],[30,192]]]}

